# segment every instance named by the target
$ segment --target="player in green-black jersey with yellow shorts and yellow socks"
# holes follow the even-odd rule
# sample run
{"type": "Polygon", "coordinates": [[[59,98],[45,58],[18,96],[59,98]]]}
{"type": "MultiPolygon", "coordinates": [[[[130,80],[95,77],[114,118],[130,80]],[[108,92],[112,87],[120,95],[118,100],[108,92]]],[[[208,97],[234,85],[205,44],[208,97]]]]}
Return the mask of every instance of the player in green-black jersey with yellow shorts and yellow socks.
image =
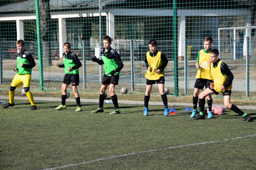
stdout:
{"type": "Polygon", "coordinates": [[[18,40],[16,42],[16,46],[19,52],[16,55],[17,65],[14,67],[14,71],[17,71],[17,73],[12,79],[12,83],[10,85],[9,103],[3,105],[3,108],[14,106],[15,89],[16,87],[20,87],[23,83],[23,89],[31,103],[30,110],[36,110],[37,107],[35,105],[33,95],[30,92],[32,68],[36,66],[36,63],[31,53],[25,50],[25,42],[23,40],[18,40]]]}

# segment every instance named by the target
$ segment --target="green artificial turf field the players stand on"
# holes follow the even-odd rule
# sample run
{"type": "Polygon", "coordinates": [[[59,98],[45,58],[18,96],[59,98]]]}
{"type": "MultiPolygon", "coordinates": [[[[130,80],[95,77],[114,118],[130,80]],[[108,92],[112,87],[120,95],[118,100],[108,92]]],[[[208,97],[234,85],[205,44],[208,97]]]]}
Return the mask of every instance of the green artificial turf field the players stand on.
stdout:
{"type": "Polygon", "coordinates": [[[213,119],[191,120],[185,107],[164,117],[163,106],[120,104],[122,114],[91,113],[98,103],[28,101],[0,107],[0,169],[256,169],[256,110],[246,122],[226,109],[213,119]]]}

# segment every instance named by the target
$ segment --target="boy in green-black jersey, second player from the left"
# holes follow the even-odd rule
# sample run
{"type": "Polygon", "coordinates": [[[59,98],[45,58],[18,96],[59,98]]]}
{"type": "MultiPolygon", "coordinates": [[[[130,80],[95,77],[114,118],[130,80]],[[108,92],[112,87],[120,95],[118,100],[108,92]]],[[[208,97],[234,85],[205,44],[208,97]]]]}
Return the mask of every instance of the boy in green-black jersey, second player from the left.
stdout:
{"type": "Polygon", "coordinates": [[[62,54],[63,64],[54,63],[55,66],[60,68],[65,67],[65,75],[61,87],[61,105],[56,107],[56,110],[66,109],[66,98],[67,98],[67,88],[70,83],[72,83],[72,89],[76,98],[76,112],[82,111],[82,106],[80,103],[80,96],[77,90],[79,85],[79,68],[82,66],[82,63],[78,59],[75,53],[71,51],[71,44],[65,42],[63,44],[64,53],[62,54]]]}

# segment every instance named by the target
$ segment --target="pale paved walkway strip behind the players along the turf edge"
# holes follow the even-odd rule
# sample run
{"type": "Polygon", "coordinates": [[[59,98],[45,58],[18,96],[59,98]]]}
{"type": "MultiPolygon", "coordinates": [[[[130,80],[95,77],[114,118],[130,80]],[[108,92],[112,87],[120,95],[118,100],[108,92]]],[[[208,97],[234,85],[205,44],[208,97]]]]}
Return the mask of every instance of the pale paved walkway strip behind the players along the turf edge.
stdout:
{"type": "MultiPolygon", "coordinates": [[[[0,96],[0,99],[3,99],[5,102],[6,100],[9,100],[9,96],[0,96]]],[[[14,100],[28,100],[27,97],[22,96],[15,96],[14,100]]],[[[61,101],[60,97],[34,97],[35,101],[61,101]]],[[[81,103],[98,103],[99,99],[80,99],[81,103]]],[[[67,99],[67,102],[76,102],[75,99],[67,99]]],[[[110,100],[111,101],[111,100],[110,100]]],[[[144,105],[144,101],[129,101],[129,100],[118,100],[118,103],[120,104],[133,104],[133,105],[144,105]]],[[[184,106],[184,107],[193,107],[192,103],[168,103],[168,106],[172,108],[173,106],[184,106]]],[[[162,101],[150,101],[148,105],[163,105],[162,101]]],[[[214,105],[214,106],[222,106],[225,108],[224,105],[214,105]]],[[[256,106],[237,106],[240,109],[250,109],[250,110],[256,110],[256,106]]]]}

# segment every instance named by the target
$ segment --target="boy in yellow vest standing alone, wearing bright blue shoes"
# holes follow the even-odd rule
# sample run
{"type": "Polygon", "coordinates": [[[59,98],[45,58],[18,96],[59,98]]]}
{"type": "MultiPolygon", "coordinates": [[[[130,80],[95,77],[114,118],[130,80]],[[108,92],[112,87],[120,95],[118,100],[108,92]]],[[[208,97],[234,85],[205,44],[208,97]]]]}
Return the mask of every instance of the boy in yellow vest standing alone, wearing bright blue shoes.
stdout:
{"type": "Polygon", "coordinates": [[[159,93],[164,103],[164,116],[169,115],[167,95],[164,92],[164,68],[167,66],[168,59],[161,51],[157,50],[156,40],[150,40],[148,42],[149,51],[146,53],[146,92],[144,96],[144,110],[143,115],[148,115],[148,102],[150,99],[150,93],[152,91],[153,84],[158,84],[159,93]]]}

